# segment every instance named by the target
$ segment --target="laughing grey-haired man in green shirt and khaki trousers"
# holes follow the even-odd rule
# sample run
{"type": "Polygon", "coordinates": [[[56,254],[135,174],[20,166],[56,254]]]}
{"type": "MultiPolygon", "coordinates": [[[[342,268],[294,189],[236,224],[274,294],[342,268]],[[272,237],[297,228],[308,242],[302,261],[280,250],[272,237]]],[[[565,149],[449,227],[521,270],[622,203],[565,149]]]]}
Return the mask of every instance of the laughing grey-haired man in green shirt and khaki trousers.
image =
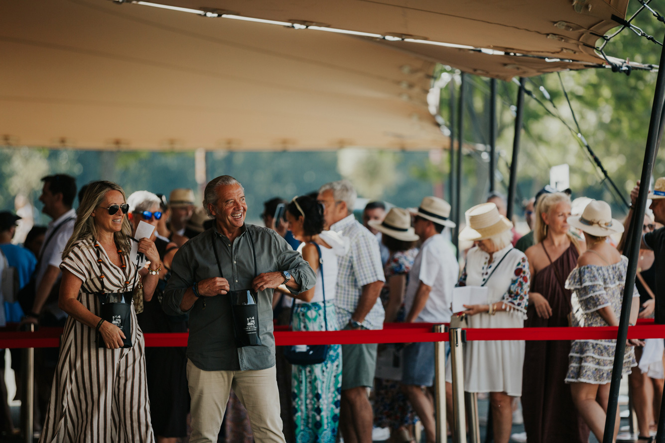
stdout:
{"type": "Polygon", "coordinates": [[[187,378],[192,397],[192,443],[216,442],[229,391],[249,414],[257,442],[284,443],[275,372],[273,290],[293,296],[316,277],[301,254],[277,232],[245,224],[245,190],[229,175],[205,187],[203,206],[215,227],[189,240],[173,260],[162,307],[190,313],[187,378]],[[227,295],[228,294],[228,295],[227,295]],[[233,315],[233,298],[256,306],[256,318],[233,315]],[[235,323],[235,325],[234,325],[235,323]],[[250,327],[251,326],[251,327],[250,327]],[[253,331],[253,341],[237,339],[253,331]]]}

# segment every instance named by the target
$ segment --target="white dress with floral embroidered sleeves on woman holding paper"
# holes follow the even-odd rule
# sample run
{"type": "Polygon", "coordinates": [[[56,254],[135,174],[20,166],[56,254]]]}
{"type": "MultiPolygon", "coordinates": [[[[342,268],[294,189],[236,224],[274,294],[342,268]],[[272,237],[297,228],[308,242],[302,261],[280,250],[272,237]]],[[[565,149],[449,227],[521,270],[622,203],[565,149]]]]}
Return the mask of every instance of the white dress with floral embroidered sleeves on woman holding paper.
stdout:
{"type": "MultiPolygon", "coordinates": [[[[489,303],[505,304],[508,310],[494,315],[486,312],[469,315],[468,327],[524,327],[531,280],[526,256],[509,245],[495,252],[490,264],[487,252],[471,248],[467,252],[459,286],[481,286],[485,280],[489,303]]],[[[523,363],[524,341],[467,341],[464,347],[464,391],[505,392],[519,397],[523,363]]],[[[447,372],[446,379],[451,381],[450,371],[447,372]]]]}

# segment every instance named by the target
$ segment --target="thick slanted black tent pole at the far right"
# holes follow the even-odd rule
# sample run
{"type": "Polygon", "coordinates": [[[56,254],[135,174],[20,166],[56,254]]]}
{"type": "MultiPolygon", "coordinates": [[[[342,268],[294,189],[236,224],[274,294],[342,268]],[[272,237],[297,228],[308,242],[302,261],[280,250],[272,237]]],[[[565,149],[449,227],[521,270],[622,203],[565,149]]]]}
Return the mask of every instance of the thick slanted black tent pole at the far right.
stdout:
{"type": "MultiPolygon", "coordinates": [[[[665,66],[665,46],[660,52],[660,64],[665,66]]],[[[607,416],[605,419],[605,430],[602,443],[612,443],[614,439],[614,424],[616,422],[616,408],[618,407],[619,385],[623,369],[624,352],[626,351],[626,337],[628,336],[628,321],[630,321],[630,305],[635,285],[635,273],[637,261],[640,254],[640,236],[642,230],[637,226],[644,220],[646,211],[646,195],[649,190],[649,181],[654,169],[654,160],[658,152],[658,133],[660,132],[660,119],[662,117],[663,99],[665,98],[665,69],[658,70],[654,102],[651,108],[651,120],[649,132],[646,137],[646,149],[644,151],[644,162],[642,163],[642,175],[640,176],[640,192],[637,195],[633,209],[632,229],[630,229],[630,250],[628,251],[628,270],[626,270],[626,285],[624,287],[623,300],[621,304],[621,316],[619,319],[619,330],[616,335],[616,348],[614,351],[614,365],[612,367],[612,382],[610,383],[610,395],[607,401],[607,416]]],[[[625,252],[624,252],[625,254],[625,252]]],[[[665,412],[660,411],[658,421],[658,434],[656,442],[665,442],[665,412]]]]}

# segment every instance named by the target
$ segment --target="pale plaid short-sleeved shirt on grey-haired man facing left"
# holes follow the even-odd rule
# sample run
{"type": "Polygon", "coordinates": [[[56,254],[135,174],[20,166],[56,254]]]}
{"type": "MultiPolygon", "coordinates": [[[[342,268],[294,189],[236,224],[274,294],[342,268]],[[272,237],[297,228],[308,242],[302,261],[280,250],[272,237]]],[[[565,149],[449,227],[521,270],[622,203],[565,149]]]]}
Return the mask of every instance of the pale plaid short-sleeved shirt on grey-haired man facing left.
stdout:
{"type": "MultiPolygon", "coordinates": [[[[362,286],[372,282],[385,282],[381,254],[376,237],[360,224],[353,215],[332,224],[331,230],[348,237],[351,248],[337,258],[337,293],[335,306],[340,325],[346,325],[358,306],[362,286]]],[[[385,312],[380,299],[365,317],[363,324],[368,329],[382,329],[385,312]]]]}

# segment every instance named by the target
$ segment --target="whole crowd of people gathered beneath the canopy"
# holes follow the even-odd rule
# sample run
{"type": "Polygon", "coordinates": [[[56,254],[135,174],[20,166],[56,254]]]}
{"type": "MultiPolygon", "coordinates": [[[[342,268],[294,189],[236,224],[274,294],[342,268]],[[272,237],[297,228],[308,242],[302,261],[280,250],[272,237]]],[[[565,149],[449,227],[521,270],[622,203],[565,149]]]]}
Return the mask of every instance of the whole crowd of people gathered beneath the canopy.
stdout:
{"type": "MultiPolygon", "coordinates": [[[[40,442],[332,443],[342,436],[365,443],[378,427],[402,443],[415,441],[420,421],[434,443],[434,343],[277,349],[274,325],[618,325],[627,269],[618,237],[632,209],[622,224],[607,203],[586,199],[574,210],[569,193],[549,187],[526,202],[531,232],[524,236],[498,193],[468,209],[460,266],[451,207],[438,197],[424,196],[412,209],[370,202],[360,222],[354,187],[335,181],[265,202],[265,226],[255,226],[245,222],[243,186],[228,175],[207,183],[203,205],[191,189],[175,189],[168,200],[150,191],[126,197],[116,183],[94,181],[80,189],[74,210],[73,177],[49,175],[43,183],[39,200],[52,221],[35,226],[23,246],[11,243],[20,217],[0,213],[0,321],[64,328],[59,349],[35,356],[40,442]],[[456,288],[485,299],[453,311],[456,288]],[[186,348],[145,347],[143,333],[186,331],[186,348]]],[[[632,324],[638,316],[665,322],[657,297],[665,287],[665,231],[656,226],[665,222],[665,177],[649,198],[654,219],[644,219],[632,324]]],[[[623,373],[639,439],[648,442],[665,379],[663,341],[628,345],[623,373]]],[[[517,399],[529,443],[587,442],[590,432],[602,440],[614,346],[469,341],[464,390],[489,395],[497,443],[511,437],[517,399]]],[[[21,359],[11,357],[20,386],[21,359]]],[[[0,393],[3,430],[11,434],[6,390],[0,393]]]]}

